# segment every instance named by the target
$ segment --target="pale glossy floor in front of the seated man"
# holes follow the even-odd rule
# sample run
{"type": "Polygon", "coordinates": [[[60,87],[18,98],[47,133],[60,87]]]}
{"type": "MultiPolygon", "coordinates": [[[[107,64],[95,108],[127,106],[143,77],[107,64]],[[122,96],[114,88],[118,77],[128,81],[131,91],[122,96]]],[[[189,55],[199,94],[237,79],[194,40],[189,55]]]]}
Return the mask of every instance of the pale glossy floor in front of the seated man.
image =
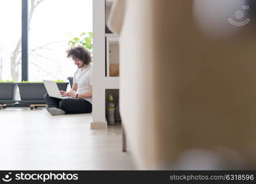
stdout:
{"type": "Polygon", "coordinates": [[[133,170],[121,126],[91,130],[92,114],[0,110],[0,170],[133,170]]]}

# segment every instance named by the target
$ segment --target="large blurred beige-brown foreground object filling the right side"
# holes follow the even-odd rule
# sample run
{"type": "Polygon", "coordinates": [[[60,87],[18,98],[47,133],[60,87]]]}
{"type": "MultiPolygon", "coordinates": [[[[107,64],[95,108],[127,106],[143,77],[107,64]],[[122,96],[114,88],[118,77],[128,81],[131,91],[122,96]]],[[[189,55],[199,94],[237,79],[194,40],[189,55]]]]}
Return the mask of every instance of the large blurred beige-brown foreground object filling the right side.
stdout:
{"type": "Polygon", "coordinates": [[[254,146],[254,31],[204,36],[191,0],[118,3],[109,26],[121,34],[120,111],[138,167],[169,167],[190,148],[254,146]]]}

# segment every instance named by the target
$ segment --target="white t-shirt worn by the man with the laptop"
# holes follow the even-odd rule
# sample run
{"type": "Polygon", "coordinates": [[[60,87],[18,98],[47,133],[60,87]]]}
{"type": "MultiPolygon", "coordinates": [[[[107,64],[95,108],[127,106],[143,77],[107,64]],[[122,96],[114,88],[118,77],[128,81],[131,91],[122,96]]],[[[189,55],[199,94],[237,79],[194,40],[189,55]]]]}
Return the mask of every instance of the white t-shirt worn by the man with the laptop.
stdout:
{"type": "MultiPolygon", "coordinates": [[[[73,83],[78,84],[78,90],[76,93],[85,93],[89,91],[90,85],[92,85],[92,63],[90,63],[86,69],[82,70],[78,68],[76,72],[74,72],[73,83]]],[[[92,104],[92,98],[85,98],[92,104]]]]}

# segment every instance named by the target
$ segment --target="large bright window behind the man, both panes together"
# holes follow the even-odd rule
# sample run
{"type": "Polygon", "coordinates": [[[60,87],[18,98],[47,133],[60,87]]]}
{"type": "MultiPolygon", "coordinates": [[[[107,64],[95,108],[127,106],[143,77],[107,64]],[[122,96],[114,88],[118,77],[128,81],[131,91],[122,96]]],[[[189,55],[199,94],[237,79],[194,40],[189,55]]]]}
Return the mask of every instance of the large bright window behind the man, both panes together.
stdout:
{"type": "MultiPolygon", "coordinates": [[[[27,1],[28,80],[72,77],[76,66],[65,51],[73,37],[92,32],[92,0],[27,1]]],[[[0,79],[20,81],[22,0],[0,1],[0,16],[0,79]]]]}

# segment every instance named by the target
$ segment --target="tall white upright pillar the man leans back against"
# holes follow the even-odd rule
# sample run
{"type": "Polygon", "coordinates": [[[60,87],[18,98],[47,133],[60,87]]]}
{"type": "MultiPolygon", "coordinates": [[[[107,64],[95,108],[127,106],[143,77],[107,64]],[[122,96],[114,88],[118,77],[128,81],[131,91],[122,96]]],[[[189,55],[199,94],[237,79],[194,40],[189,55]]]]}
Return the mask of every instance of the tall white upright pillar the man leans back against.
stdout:
{"type": "Polygon", "coordinates": [[[105,118],[105,0],[93,1],[94,74],[91,129],[106,128],[105,118]]]}

